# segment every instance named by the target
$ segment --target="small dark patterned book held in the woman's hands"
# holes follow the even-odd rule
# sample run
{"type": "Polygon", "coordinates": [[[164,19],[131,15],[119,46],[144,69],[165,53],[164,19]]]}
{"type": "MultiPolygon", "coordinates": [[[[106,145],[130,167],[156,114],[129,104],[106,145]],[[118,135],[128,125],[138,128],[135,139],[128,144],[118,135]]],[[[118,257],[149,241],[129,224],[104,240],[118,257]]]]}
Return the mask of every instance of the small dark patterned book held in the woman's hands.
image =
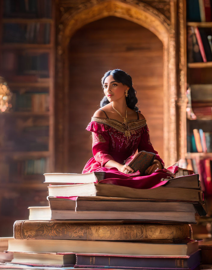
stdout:
{"type": "Polygon", "coordinates": [[[125,164],[132,168],[134,172],[139,171],[140,175],[144,175],[145,170],[152,165],[155,155],[152,152],[141,151],[133,159],[126,160],[125,164]]]}

